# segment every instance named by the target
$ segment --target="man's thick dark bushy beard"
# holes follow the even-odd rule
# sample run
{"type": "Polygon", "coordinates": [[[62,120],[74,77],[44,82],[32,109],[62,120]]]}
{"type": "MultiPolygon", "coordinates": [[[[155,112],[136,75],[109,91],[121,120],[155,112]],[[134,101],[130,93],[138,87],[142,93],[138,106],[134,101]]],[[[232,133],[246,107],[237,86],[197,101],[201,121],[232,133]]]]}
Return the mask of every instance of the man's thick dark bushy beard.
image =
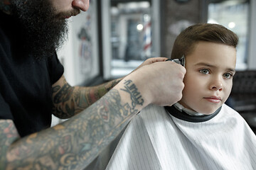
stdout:
{"type": "Polygon", "coordinates": [[[23,27],[26,40],[23,50],[38,59],[52,56],[68,35],[67,22],[60,18],[65,14],[57,15],[49,0],[13,0],[11,3],[12,13],[23,27]]]}

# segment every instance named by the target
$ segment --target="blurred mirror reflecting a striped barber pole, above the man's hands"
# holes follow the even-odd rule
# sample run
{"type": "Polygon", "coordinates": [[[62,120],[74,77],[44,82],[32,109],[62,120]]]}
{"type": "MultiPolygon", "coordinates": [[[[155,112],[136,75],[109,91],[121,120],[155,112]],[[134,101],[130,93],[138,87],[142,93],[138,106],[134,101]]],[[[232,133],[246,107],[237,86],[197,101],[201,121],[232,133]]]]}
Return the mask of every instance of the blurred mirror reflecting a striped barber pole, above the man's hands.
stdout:
{"type": "Polygon", "coordinates": [[[147,58],[159,57],[159,1],[102,0],[102,7],[105,79],[123,77],[147,58]]]}

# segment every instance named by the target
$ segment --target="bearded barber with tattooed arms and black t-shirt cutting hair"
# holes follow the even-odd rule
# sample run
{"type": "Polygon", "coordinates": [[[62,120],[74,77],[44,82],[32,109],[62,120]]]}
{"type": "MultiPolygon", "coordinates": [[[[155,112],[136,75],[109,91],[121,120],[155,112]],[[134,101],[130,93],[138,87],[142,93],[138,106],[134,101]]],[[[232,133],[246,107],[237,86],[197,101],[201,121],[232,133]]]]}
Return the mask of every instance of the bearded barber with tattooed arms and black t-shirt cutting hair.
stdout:
{"type": "Polygon", "coordinates": [[[84,169],[142,108],[181,98],[186,70],[164,57],[99,86],[65,81],[55,50],[89,4],[0,0],[0,169],[84,169]],[[50,127],[52,114],[68,120],[50,127]]]}

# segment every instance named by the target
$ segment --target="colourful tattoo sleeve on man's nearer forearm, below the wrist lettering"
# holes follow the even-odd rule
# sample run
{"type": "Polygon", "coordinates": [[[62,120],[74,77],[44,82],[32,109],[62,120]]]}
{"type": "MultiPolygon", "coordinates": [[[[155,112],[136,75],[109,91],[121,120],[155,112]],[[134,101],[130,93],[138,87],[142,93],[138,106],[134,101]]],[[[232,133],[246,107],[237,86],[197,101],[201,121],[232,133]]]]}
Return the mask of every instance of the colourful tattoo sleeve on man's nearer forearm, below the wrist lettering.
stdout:
{"type": "MultiPolygon", "coordinates": [[[[85,168],[132,118],[134,106],[129,103],[122,103],[119,91],[112,89],[64,123],[14,142],[6,154],[1,152],[6,155],[6,169],[85,168]]],[[[1,145],[7,148],[9,142],[1,140],[1,145]]]]}

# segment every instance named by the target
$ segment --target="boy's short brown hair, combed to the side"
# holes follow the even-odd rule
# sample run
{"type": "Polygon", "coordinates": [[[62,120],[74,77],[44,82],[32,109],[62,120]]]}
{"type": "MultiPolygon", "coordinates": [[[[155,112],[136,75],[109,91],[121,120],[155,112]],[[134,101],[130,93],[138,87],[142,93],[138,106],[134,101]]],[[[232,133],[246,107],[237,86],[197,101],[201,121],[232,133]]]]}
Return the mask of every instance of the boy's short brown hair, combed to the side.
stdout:
{"type": "Polygon", "coordinates": [[[214,42],[236,47],[238,35],[224,26],[213,23],[198,23],[183,30],[174,42],[171,59],[181,58],[193,52],[200,41],[214,42]]]}

